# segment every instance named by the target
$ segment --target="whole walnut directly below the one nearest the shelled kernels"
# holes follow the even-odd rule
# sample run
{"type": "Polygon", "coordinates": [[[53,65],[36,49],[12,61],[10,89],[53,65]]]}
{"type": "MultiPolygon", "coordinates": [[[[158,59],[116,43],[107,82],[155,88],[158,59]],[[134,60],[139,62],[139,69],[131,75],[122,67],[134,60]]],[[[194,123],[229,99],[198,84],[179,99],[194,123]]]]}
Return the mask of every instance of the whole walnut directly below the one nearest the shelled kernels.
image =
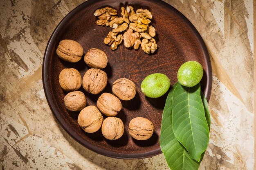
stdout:
{"type": "Polygon", "coordinates": [[[88,69],[83,76],[83,88],[86,92],[99,94],[106,87],[108,76],[100,69],[88,69]]]}

